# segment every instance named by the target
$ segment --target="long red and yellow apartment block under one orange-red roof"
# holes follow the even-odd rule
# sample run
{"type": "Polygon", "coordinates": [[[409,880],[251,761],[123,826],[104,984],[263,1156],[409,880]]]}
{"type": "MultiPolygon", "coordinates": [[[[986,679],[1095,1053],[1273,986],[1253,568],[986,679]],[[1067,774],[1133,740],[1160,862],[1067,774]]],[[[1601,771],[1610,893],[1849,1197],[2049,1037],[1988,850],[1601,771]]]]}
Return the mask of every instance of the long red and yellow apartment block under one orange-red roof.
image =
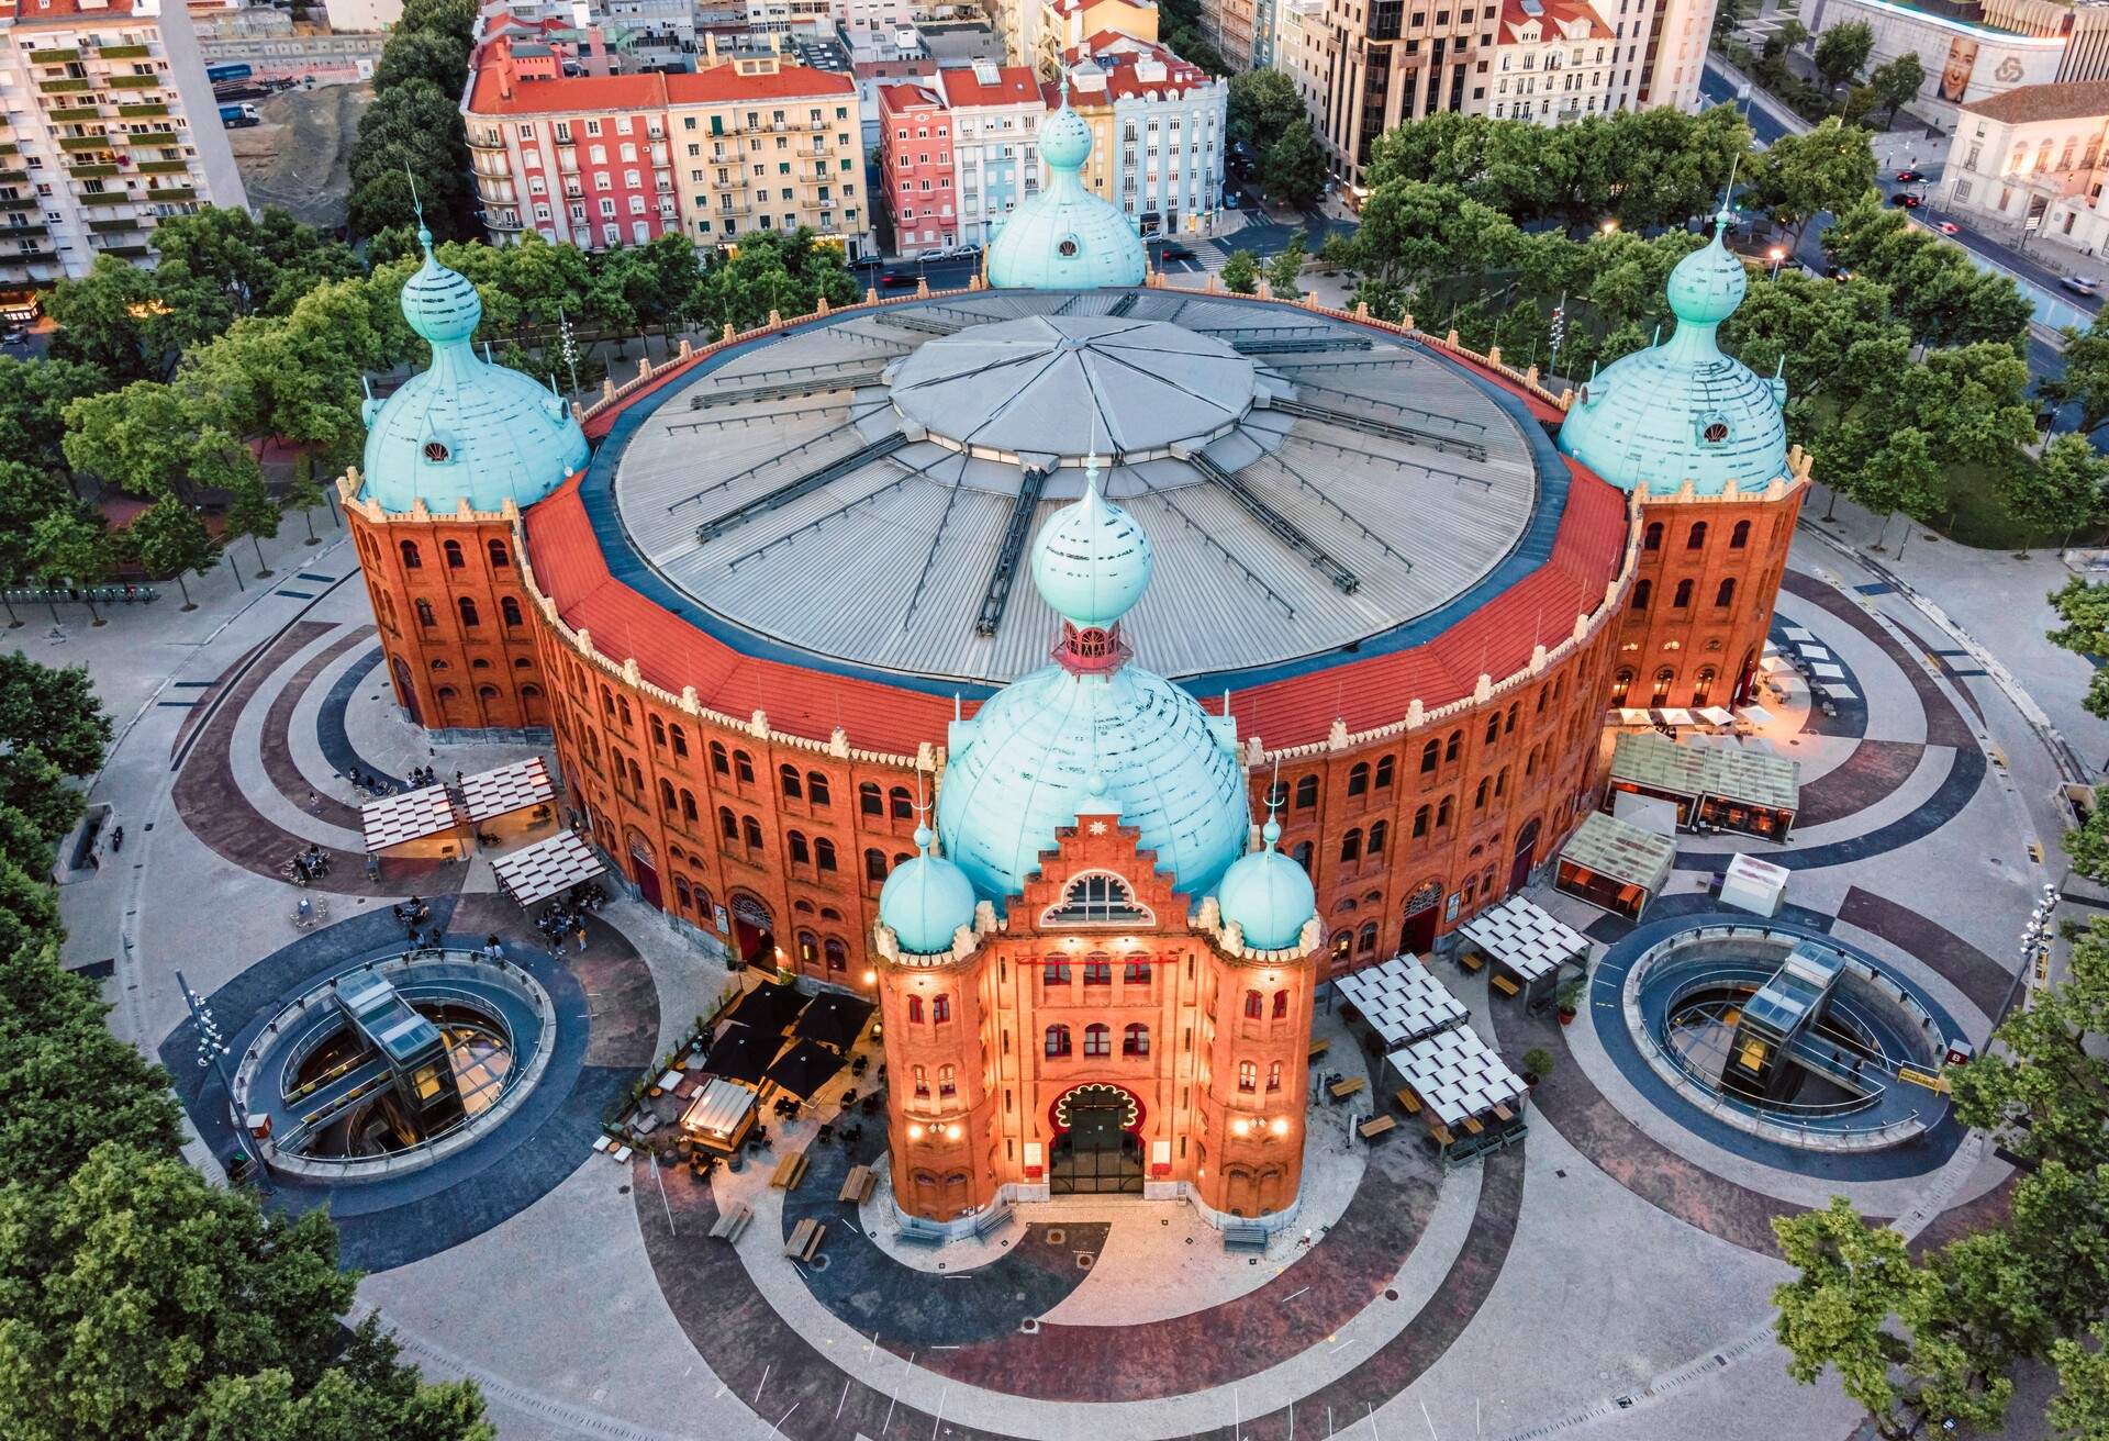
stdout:
{"type": "Polygon", "coordinates": [[[863,249],[856,87],[776,49],[704,36],[694,74],[527,78],[496,40],[462,114],[491,245],[527,230],[584,249],[671,232],[723,245],[810,226],[863,249]]]}

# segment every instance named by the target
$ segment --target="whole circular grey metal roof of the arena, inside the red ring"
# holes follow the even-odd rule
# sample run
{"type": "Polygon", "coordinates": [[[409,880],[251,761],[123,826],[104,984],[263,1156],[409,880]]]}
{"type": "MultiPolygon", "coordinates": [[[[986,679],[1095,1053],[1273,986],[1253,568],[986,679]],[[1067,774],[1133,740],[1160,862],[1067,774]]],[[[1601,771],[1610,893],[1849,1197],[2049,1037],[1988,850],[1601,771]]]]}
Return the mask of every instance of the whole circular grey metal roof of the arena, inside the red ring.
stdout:
{"type": "MultiPolygon", "coordinates": [[[[890,306],[692,380],[628,439],[616,502],[639,555],[734,625],[1002,684],[1059,629],[1017,584],[976,631],[1025,464],[1082,456],[1097,428],[1103,489],[1156,549],[1124,620],[1137,660],[1173,677],[1295,660],[1470,589],[1537,502],[1529,439],[1489,392],[1346,335],[1177,291],[890,306]]],[[[1080,494],[1057,464],[1027,534],[1080,494]]]]}

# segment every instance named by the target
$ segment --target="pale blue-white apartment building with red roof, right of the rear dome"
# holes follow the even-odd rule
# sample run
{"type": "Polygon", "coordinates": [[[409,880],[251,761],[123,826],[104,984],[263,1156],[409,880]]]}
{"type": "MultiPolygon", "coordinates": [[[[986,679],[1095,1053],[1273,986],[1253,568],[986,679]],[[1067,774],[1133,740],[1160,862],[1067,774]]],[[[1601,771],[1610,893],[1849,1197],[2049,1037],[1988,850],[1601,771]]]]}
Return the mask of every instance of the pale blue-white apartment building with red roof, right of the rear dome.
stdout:
{"type": "MultiPolygon", "coordinates": [[[[1223,198],[1230,82],[1162,44],[1101,32],[1063,53],[1069,108],[1092,129],[1084,186],[1143,234],[1198,230],[1223,198]]],[[[1048,108],[1061,103],[1046,89],[1048,108]]]]}

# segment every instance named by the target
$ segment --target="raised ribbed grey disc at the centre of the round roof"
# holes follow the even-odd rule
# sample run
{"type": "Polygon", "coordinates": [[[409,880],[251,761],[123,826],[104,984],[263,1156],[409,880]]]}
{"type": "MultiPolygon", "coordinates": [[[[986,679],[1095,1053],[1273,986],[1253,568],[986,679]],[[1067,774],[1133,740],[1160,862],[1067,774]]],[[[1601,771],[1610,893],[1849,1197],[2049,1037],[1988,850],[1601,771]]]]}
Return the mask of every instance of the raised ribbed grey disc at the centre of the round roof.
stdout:
{"type": "Polygon", "coordinates": [[[894,409],[951,449],[1128,462],[1204,445],[1253,407],[1253,363],[1164,321],[1046,316],[932,340],[888,371],[894,409]]]}

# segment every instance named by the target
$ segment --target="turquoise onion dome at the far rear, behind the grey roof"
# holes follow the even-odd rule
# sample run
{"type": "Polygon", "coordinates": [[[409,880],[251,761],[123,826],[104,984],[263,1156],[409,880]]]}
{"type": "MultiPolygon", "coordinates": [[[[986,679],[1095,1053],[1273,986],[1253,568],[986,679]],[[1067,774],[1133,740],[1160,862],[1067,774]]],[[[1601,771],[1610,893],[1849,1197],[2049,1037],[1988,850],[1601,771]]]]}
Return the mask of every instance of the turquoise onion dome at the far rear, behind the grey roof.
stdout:
{"type": "Polygon", "coordinates": [[[1048,181],[1025,196],[989,243],[989,285],[1025,291],[1141,285],[1149,276],[1143,236],[1120,207],[1084,188],[1090,122],[1069,110],[1067,84],[1038,143],[1048,181]]]}

